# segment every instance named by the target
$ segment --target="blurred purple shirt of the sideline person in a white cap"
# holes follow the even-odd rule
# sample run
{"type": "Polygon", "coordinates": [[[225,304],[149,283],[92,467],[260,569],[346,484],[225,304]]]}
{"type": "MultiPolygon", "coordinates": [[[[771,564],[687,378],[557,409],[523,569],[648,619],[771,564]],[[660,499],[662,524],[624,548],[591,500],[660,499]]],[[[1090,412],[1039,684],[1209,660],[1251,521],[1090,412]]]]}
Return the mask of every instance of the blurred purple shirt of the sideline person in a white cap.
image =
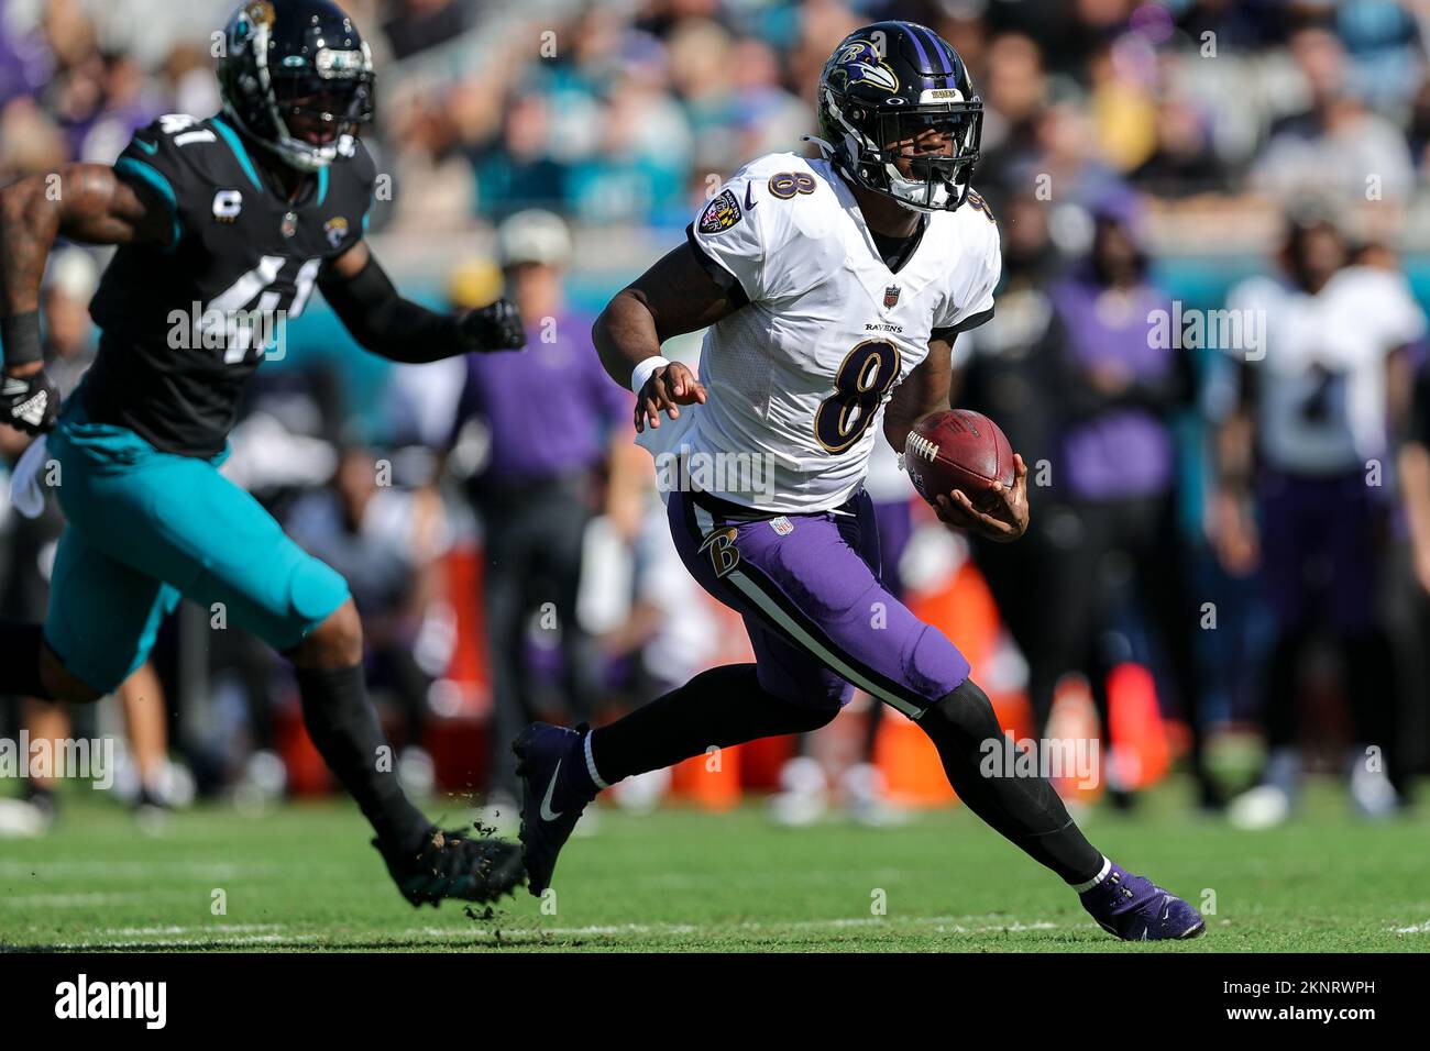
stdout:
{"type": "Polygon", "coordinates": [[[632,430],[633,398],[601,367],[591,319],[562,313],[526,326],[526,350],[466,356],[456,428],[480,418],[492,452],[478,485],[575,475],[605,458],[615,428],[632,430]],[[543,343],[542,336],[555,342],[543,343]]]}

